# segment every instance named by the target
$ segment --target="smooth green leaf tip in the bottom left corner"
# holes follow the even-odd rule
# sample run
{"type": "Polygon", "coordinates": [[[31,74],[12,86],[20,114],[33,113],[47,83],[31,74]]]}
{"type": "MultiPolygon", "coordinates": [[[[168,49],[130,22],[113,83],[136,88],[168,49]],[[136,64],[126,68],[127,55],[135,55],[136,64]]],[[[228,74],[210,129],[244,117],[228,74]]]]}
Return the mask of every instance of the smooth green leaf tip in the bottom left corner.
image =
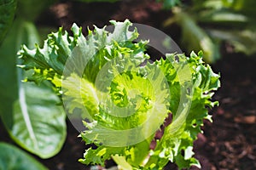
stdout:
{"type": "Polygon", "coordinates": [[[14,145],[0,143],[0,169],[3,170],[46,170],[32,156],[25,151],[16,148],[14,145]]]}

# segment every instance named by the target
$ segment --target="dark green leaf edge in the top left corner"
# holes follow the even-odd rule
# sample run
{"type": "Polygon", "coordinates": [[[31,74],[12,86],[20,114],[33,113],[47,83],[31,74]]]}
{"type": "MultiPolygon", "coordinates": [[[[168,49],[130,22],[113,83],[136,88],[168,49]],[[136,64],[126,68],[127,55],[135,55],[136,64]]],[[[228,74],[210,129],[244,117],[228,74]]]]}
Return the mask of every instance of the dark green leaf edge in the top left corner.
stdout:
{"type": "Polygon", "coordinates": [[[16,0],[0,0],[0,45],[15,17],[16,0]]]}

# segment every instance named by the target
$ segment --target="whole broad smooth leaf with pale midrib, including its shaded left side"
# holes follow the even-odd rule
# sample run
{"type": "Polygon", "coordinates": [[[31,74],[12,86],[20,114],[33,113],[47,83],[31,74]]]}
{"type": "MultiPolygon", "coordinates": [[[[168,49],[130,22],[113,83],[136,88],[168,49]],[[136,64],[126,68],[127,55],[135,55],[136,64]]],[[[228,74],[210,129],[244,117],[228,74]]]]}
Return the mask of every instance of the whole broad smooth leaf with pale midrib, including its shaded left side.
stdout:
{"type": "Polygon", "coordinates": [[[16,20],[0,48],[0,116],[12,139],[42,158],[54,156],[66,138],[66,114],[49,85],[21,82],[24,72],[17,68],[20,43],[38,41],[32,23],[16,20]],[[16,28],[19,28],[17,30],[16,28]]]}

